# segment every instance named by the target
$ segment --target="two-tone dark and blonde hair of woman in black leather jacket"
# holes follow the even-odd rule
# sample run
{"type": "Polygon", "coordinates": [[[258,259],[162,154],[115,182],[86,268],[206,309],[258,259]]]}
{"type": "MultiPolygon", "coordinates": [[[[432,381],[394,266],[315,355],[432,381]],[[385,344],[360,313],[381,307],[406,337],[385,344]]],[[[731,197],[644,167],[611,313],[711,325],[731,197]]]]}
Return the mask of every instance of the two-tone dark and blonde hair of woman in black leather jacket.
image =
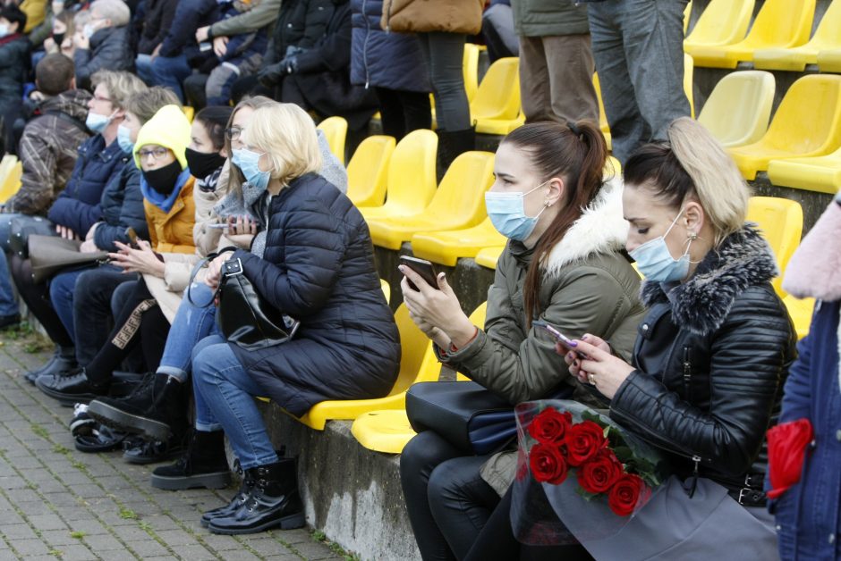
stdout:
{"type": "Polygon", "coordinates": [[[709,130],[689,117],[668,126],[668,143],[649,144],[624,165],[626,186],[649,188],[676,209],[696,199],[715,231],[715,245],[740,230],[750,190],[733,158],[709,130]]]}

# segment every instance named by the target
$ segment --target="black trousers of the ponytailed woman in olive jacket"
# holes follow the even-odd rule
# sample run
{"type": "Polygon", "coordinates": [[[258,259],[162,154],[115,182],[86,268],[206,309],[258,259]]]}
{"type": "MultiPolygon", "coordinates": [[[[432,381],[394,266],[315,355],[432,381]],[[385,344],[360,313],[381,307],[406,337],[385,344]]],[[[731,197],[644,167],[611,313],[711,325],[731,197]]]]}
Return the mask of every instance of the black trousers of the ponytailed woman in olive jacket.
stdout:
{"type": "MultiPolygon", "coordinates": [[[[499,503],[480,477],[488,456],[464,456],[435,432],[414,437],[400,456],[409,521],[424,561],[463,559],[499,503]]],[[[494,557],[498,558],[498,557],[494,557]]]]}

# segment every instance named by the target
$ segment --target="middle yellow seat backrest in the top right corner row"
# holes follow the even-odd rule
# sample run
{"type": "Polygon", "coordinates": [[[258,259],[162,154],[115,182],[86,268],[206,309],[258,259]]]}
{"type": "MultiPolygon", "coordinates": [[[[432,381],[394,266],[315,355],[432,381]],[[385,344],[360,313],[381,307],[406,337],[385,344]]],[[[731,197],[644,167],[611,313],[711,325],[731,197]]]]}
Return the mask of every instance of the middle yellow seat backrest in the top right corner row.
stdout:
{"type": "Polygon", "coordinates": [[[765,0],[745,41],[753,45],[797,46],[809,40],[815,0],[765,0]]]}

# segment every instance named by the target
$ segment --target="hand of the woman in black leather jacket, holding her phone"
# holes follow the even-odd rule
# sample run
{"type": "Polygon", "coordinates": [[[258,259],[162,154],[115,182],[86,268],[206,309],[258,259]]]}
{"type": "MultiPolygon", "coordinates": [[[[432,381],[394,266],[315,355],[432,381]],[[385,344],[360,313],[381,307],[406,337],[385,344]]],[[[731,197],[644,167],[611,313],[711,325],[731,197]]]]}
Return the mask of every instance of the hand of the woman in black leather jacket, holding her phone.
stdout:
{"type": "MultiPolygon", "coordinates": [[[[589,383],[608,399],[613,399],[622,382],[635,370],[631,364],[610,354],[610,347],[598,337],[589,335],[588,339],[598,339],[597,345],[584,340],[576,340],[575,350],[564,356],[569,364],[569,372],[578,381],[589,383]]],[[[593,341],[596,342],[596,341],[593,341]]]]}

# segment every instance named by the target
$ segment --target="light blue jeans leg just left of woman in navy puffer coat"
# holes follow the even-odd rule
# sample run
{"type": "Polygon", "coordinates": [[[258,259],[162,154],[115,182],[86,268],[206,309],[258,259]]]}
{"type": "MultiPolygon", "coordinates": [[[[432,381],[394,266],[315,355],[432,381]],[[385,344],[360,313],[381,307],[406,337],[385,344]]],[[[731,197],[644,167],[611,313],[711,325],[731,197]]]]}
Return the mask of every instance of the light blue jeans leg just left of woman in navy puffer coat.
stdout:
{"type": "Polygon", "coordinates": [[[194,282],[190,295],[196,304],[193,306],[184,295],[166,338],[164,356],[157,367],[158,374],[167,374],[182,383],[187,381],[190,373],[193,347],[208,335],[220,334],[216,322],[217,308],[211,301],[213,291],[202,282],[194,282]],[[202,307],[206,303],[209,306],[202,307]]]}

